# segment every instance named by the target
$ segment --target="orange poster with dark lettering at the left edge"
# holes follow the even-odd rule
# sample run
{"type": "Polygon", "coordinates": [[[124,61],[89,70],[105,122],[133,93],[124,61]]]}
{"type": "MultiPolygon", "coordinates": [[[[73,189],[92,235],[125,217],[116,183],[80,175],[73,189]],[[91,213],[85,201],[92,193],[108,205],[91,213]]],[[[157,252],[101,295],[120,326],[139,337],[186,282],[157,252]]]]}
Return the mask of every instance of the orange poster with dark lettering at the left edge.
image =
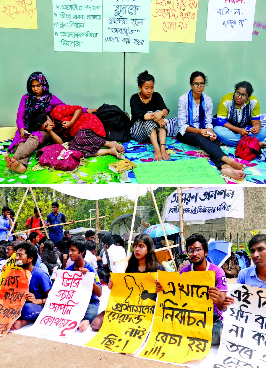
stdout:
{"type": "Polygon", "coordinates": [[[0,336],[6,336],[10,327],[21,315],[29,292],[29,270],[11,270],[0,290],[0,336]]]}

